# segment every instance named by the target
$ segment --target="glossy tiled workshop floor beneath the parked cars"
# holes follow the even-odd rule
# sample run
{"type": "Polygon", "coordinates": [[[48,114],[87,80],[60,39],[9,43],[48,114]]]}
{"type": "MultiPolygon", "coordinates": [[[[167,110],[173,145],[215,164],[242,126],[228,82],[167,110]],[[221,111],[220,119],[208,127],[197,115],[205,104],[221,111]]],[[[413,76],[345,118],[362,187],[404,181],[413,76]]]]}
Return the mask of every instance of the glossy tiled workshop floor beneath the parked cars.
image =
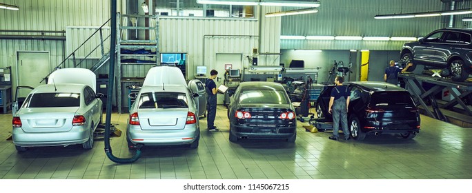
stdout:
{"type": "MultiPolygon", "coordinates": [[[[132,156],[126,147],[128,114],[112,114],[123,131],[112,137],[112,153],[132,156]]],[[[422,116],[415,139],[367,136],[364,141],[331,141],[330,133],[306,132],[298,122],[297,140],[228,141],[226,108],[218,106],[219,132],[200,120],[199,148],[147,147],[132,164],[114,163],[104,140],[92,150],[81,145],[32,148],[17,153],[11,114],[0,114],[0,179],[472,179],[472,128],[422,116]]]]}

